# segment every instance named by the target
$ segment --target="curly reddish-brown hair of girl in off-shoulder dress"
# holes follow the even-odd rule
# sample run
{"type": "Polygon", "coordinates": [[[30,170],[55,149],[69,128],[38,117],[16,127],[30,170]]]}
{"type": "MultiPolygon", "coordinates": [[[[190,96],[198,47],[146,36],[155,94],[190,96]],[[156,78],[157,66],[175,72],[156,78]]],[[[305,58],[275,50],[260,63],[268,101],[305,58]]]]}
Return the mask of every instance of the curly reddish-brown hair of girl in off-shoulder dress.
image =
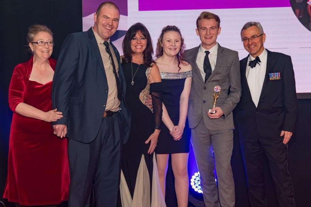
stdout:
{"type": "Polygon", "coordinates": [[[186,45],[184,44],[183,37],[181,36],[180,30],[178,29],[178,27],[168,25],[162,29],[162,32],[161,32],[160,37],[158,38],[158,42],[156,44],[156,58],[159,58],[163,55],[163,47],[161,46],[161,44],[162,44],[163,36],[164,36],[165,32],[169,32],[169,31],[178,32],[180,34],[181,45],[180,45],[180,50],[176,55],[178,67],[180,70],[181,69],[179,66],[180,63],[182,63],[183,65],[187,65],[187,64],[183,62],[184,61],[183,60],[184,51],[185,51],[186,45]]]}

